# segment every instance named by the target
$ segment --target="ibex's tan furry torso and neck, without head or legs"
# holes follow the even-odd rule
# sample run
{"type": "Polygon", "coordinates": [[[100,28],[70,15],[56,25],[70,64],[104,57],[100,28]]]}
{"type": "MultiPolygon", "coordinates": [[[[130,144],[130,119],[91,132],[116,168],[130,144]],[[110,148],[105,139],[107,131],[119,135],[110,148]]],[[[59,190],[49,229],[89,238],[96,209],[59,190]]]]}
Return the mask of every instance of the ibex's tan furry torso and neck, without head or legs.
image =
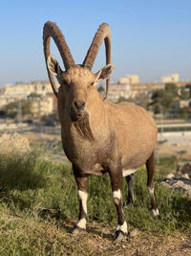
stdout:
{"type": "Polygon", "coordinates": [[[110,160],[118,159],[121,159],[122,169],[138,169],[155,150],[156,125],[140,106],[103,102],[96,88],[92,88],[85,118],[73,123],[68,107],[63,107],[62,97],[59,91],[58,112],[64,150],[83,174],[101,175],[110,160]]]}

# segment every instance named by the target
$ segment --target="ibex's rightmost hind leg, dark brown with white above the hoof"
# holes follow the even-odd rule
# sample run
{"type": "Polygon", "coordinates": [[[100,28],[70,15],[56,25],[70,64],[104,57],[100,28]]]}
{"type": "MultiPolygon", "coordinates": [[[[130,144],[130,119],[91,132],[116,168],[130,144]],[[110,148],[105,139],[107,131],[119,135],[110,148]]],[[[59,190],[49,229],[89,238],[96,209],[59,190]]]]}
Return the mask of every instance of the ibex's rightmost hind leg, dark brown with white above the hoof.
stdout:
{"type": "Polygon", "coordinates": [[[147,169],[147,188],[149,191],[149,196],[151,198],[151,207],[153,216],[159,216],[159,209],[156,204],[155,196],[154,196],[154,185],[153,185],[153,176],[155,173],[155,152],[151,154],[149,159],[146,162],[147,169]]]}

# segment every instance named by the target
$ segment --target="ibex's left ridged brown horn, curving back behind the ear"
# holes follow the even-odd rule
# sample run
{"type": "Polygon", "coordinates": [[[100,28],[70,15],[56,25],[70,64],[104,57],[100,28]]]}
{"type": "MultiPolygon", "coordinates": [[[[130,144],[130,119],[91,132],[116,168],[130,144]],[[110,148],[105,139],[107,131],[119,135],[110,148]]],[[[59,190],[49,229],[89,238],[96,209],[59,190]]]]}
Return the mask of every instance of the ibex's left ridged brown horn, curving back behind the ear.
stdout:
{"type": "MultiPolygon", "coordinates": [[[[44,25],[43,29],[43,45],[44,45],[44,55],[47,65],[47,58],[50,55],[50,42],[51,37],[53,37],[53,40],[58,48],[58,51],[61,55],[61,58],[63,60],[65,69],[69,69],[71,66],[74,66],[74,58],[71,55],[70,49],[65,41],[64,35],[57,27],[56,23],[53,23],[52,21],[47,21],[44,25]]],[[[47,65],[47,71],[49,75],[49,79],[51,81],[51,85],[53,88],[53,93],[57,97],[57,92],[55,90],[55,83],[53,81],[53,74],[49,71],[48,65],[47,65]]]]}

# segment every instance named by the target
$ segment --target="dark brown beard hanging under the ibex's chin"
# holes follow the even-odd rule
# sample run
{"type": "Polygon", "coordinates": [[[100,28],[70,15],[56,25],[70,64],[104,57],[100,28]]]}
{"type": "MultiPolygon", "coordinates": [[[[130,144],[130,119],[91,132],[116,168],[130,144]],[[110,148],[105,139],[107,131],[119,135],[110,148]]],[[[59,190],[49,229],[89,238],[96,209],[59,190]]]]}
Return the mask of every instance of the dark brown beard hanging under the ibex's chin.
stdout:
{"type": "Polygon", "coordinates": [[[83,114],[83,118],[80,118],[74,122],[74,127],[82,138],[86,138],[91,141],[94,140],[93,132],[90,128],[89,114],[87,112],[83,114]]]}

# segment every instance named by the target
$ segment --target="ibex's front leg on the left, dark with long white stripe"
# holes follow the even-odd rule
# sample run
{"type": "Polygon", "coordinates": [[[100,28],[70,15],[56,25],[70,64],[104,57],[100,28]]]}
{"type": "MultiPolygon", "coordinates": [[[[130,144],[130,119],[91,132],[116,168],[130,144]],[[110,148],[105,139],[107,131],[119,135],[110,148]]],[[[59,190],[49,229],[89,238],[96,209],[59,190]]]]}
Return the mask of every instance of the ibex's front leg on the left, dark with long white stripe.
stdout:
{"type": "Polygon", "coordinates": [[[74,176],[77,184],[77,194],[79,199],[79,218],[74,225],[73,233],[77,234],[86,230],[87,217],[87,199],[88,199],[88,176],[81,176],[76,167],[73,166],[74,176]]]}

